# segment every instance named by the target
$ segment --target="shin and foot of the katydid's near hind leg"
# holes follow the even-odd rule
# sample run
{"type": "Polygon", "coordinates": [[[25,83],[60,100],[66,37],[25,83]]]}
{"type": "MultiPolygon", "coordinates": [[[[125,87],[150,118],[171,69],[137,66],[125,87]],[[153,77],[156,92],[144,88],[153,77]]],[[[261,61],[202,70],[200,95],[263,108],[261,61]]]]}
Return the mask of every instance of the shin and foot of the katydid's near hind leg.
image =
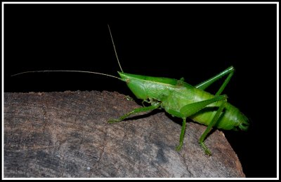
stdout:
{"type": "Polygon", "coordinates": [[[216,125],[216,122],[218,121],[218,118],[221,116],[221,113],[223,112],[223,109],[225,106],[226,106],[226,99],[223,101],[221,106],[219,106],[218,111],[216,111],[214,118],[211,120],[211,123],[208,125],[207,129],[205,130],[205,132],[202,134],[202,136],[199,139],[199,144],[200,144],[200,146],[202,146],[202,148],[204,149],[204,151],[207,155],[211,155],[211,151],[204,144],[204,139],[207,137],[207,134],[209,134],[212,127],[214,127],[214,125],[216,125]]]}

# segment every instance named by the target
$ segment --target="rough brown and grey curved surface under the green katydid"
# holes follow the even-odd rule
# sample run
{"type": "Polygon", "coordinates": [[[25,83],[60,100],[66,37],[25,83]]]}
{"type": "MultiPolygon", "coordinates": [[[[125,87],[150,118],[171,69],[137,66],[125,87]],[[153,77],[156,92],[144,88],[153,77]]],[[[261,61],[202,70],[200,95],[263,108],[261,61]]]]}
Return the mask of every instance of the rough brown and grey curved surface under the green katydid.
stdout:
{"type": "Polygon", "coordinates": [[[237,155],[215,130],[157,110],[121,123],[110,118],[140,107],[118,92],[4,93],[4,177],[244,177],[237,155]]]}

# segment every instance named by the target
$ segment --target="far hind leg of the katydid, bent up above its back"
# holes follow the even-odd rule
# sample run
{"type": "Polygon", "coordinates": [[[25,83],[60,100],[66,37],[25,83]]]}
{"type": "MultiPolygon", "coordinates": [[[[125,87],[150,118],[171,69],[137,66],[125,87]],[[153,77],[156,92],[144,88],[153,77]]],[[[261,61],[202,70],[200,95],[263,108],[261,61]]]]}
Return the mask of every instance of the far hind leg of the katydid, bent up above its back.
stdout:
{"type": "Polygon", "coordinates": [[[234,74],[234,67],[230,66],[228,69],[226,69],[225,71],[222,71],[221,73],[218,73],[216,76],[209,78],[209,80],[206,80],[198,85],[196,85],[195,87],[201,89],[201,90],[205,90],[207,87],[209,87],[209,85],[211,85],[212,83],[214,83],[216,80],[218,80],[219,78],[222,78],[223,76],[228,75],[228,77],[226,78],[226,80],[224,80],[223,85],[221,85],[221,87],[218,89],[218,92],[216,92],[215,95],[219,95],[221,94],[221,92],[223,92],[224,88],[226,87],[226,85],[228,85],[230,78],[233,76],[234,74]]]}

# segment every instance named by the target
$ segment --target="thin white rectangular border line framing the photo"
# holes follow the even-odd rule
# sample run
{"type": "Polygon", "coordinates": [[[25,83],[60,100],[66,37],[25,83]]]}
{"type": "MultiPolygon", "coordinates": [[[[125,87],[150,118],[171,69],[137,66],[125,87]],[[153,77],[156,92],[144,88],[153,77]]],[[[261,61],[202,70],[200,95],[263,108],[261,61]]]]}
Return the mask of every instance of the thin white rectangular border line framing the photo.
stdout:
{"type": "MultiPolygon", "coordinates": [[[[245,178],[245,179],[263,179],[263,180],[279,180],[279,2],[2,2],[2,57],[1,57],[1,66],[2,66],[2,179],[12,179],[12,180],[19,180],[19,179],[25,179],[25,180],[38,180],[38,179],[49,179],[49,178],[4,178],[4,4],[276,4],[277,5],[277,178],[245,178]]],[[[72,178],[50,178],[51,180],[61,180],[61,179],[72,179],[72,178]]],[[[86,179],[86,180],[93,180],[93,179],[115,179],[115,178],[77,178],[72,180],[80,180],[80,179],[86,179]]],[[[133,179],[143,179],[143,178],[133,178],[133,179]]],[[[147,179],[147,178],[145,178],[147,179]]],[[[158,178],[148,178],[150,179],[158,179],[158,178]]],[[[159,178],[159,179],[169,179],[169,178],[159,178]]],[[[181,179],[181,178],[171,178],[173,179],[181,179]]],[[[186,178],[183,178],[182,180],[185,180],[186,178]]],[[[209,178],[192,178],[192,179],[209,179],[209,178]]],[[[213,178],[211,180],[225,180],[228,178],[213,178]]],[[[242,179],[242,178],[232,178],[229,180],[235,180],[235,179],[242,179]]],[[[131,178],[118,178],[117,180],[131,180],[131,178]]]]}

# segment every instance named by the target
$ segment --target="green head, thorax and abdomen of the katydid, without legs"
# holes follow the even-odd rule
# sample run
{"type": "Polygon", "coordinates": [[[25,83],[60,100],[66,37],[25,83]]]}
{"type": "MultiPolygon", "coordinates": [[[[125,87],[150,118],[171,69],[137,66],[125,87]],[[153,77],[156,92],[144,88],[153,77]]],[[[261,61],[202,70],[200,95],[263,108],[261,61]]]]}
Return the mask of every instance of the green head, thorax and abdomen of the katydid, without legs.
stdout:
{"type": "MultiPolygon", "coordinates": [[[[161,78],[141,76],[118,72],[119,76],[126,80],[126,84],[138,99],[143,99],[153,104],[160,102],[160,107],[172,116],[172,111],[181,113],[183,106],[191,103],[214,98],[213,94],[200,90],[188,83],[173,78],[161,78]]],[[[220,102],[210,104],[190,118],[197,123],[209,125],[220,102]],[[213,109],[212,109],[213,108],[213,109]]],[[[222,130],[247,130],[247,118],[233,105],[226,103],[225,112],[216,123],[216,127],[222,130]]]]}

